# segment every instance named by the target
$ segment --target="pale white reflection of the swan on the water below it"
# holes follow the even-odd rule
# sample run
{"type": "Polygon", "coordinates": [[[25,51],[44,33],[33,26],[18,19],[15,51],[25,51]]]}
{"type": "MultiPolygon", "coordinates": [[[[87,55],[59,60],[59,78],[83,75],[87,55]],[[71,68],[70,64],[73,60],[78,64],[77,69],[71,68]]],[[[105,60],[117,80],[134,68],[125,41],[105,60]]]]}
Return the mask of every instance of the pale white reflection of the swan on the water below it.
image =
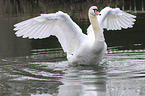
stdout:
{"type": "Polygon", "coordinates": [[[72,67],[63,75],[58,96],[104,96],[106,72],[102,66],[72,67]]]}

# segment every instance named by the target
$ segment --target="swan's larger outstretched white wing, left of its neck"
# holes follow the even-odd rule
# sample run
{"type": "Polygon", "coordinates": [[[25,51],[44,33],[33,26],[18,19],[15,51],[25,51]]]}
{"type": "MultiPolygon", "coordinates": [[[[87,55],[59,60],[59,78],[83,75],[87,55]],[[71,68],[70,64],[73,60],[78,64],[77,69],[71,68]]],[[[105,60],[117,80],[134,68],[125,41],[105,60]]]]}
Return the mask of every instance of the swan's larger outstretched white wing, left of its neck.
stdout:
{"type": "Polygon", "coordinates": [[[28,19],[14,26],[16,27],[14,30],[17,31],[15,34],[18,37],[42,39],[55,35],[63,50],[68,54],[73,54],[86,37],[69,15],[61,11],[41,14],[41,16],[28,19]]]}

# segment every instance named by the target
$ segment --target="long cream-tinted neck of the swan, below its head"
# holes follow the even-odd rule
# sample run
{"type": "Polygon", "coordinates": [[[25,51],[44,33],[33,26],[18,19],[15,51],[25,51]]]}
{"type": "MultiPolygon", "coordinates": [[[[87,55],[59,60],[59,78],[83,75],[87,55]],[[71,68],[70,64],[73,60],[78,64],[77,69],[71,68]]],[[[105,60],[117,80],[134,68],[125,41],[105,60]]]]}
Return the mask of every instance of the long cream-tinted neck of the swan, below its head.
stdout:
{"type": "Polygon", "coordinates": [[[89,15],[89,19],[93,27],[95,39],[104,39],[103,30],[100,27],[97,17],[89,15]]]}

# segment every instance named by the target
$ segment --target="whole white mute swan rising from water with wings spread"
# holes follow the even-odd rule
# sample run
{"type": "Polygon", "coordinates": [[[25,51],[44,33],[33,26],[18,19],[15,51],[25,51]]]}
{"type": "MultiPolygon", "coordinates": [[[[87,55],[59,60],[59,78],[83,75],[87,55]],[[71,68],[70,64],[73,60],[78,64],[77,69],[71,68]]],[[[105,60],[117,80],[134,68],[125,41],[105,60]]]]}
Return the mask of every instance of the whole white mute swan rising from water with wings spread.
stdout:
{"type": "Polygon", "coordinates": [[[88,12],[91,25],[87,35],[67,13],[41,14],[38,17],[15,24],[17,37],[42,39],[54,35],[58,38],[67,59],[72,63],[97,64],[103,58],[107,45],[103,29],[121,30],[131,28],[136,16],[119,8],[106,7],[99,13],[96,6],[88,12]]]}

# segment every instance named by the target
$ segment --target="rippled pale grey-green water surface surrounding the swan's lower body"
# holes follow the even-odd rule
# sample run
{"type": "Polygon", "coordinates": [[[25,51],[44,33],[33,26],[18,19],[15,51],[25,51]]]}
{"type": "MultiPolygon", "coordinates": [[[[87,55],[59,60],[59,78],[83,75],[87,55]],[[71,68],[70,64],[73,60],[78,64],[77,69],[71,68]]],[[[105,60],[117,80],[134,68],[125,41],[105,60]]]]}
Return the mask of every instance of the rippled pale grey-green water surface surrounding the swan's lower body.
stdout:
{"type": "Polygon", "coordinates": [[[0,60],[1,96],[144,96],[145,50],[115,50],[99,65],[68,63],[62,49],[0,60]]]}

